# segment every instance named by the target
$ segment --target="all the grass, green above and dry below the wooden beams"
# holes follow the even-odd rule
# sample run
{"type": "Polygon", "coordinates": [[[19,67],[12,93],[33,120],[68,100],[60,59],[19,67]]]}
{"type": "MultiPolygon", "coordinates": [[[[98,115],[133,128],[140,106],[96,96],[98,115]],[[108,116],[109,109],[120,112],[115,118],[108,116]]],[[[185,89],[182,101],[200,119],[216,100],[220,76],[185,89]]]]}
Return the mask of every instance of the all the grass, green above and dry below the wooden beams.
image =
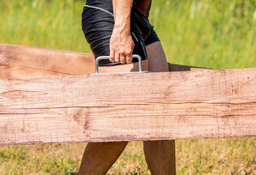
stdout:
{"type": "MultiPolygon", "coordinates": [[[[0,43],[90,52],[81,30],[85,1],[1,0],[0,43]]],[[[169,63],[256,67],[256,1],[158,0],[150,21],[169,63]]],[[[256,174],[256,138],[177,140],[177,174],[256,174]]],[[[75,174],[85,144],[0,147],[1,174],[75,174]]],[[[109,174],[150,174],[141,141],[109,174]]]]}

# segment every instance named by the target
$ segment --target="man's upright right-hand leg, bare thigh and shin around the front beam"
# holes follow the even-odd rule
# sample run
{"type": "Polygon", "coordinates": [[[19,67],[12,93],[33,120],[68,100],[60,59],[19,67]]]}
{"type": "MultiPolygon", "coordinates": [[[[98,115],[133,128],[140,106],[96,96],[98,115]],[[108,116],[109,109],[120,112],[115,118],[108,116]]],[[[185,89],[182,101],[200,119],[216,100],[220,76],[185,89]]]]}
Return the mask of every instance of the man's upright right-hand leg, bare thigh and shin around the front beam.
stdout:
{"type": "MultiPolygon", "coordinates": [[[[152,43],[146,49],[149,70],[168,71],[166,55],[160,42],[152,43]]],[[[144,155],[152,175],[176,174],[174,140],[144,141],[144,155]]]]}

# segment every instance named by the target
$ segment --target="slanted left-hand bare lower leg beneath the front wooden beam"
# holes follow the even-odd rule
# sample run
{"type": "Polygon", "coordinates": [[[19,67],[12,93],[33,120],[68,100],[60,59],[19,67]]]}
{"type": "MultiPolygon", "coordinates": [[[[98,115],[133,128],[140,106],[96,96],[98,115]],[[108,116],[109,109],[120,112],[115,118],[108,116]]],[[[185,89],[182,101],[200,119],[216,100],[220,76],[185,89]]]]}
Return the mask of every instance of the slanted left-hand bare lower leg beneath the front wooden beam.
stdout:
{"type": "Polygon", "coordinates": [[[79,175],[104,175],[125,149],[128,141],[88,143],[82,156],[79,175]]]}

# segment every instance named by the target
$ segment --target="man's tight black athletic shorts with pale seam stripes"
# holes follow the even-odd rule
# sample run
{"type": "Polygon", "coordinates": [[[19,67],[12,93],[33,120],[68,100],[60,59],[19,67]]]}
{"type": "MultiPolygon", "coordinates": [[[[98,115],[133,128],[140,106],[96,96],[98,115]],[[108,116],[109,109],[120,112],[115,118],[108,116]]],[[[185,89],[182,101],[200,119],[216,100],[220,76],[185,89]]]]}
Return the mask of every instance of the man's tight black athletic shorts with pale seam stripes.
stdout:
{"type": "MultiPolygon", "coordinates": [[[[88,0],[82,12],[82,31],[90,44],[95,58],[109,55],[109,41],[114,28],[112,0],[88,0]]],[[[142,60],[147,59],[146,46],[160,39],[154,27],[136,9],[131,9],[131,36],[134,42],[133,54],[140,55],[142,60]]],[[[133,63],[137,59],[133,59],[133,63]]],[[[101,60],[99,66],[112,66],[109,60],[101,60]]]]}

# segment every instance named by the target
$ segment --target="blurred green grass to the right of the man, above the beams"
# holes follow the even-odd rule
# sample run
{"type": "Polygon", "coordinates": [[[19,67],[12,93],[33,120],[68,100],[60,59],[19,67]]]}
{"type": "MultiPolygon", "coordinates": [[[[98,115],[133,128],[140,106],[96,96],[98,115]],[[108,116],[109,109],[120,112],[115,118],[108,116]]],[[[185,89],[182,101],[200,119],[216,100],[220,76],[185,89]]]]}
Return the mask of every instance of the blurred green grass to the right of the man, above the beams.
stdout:
{"type": "Polygon", "coordinates": [[[256,66],[256,1],[153,1],[168,61],[214,69],[256,66]]]}

